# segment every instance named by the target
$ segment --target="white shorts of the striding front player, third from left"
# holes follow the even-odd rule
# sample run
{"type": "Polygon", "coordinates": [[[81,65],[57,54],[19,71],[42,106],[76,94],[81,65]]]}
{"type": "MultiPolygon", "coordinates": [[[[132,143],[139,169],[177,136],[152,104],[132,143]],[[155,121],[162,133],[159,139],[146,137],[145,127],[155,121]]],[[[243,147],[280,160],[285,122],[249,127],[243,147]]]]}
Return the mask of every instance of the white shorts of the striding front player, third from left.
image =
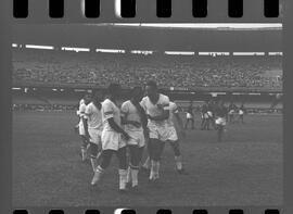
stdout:
{"type": "Polygon", "coordinates": [[[126,142],[122,140],[122,135],[113,130],[103,130],[102,136],[102,150],[115,150],[126,146],[126,142]]]}

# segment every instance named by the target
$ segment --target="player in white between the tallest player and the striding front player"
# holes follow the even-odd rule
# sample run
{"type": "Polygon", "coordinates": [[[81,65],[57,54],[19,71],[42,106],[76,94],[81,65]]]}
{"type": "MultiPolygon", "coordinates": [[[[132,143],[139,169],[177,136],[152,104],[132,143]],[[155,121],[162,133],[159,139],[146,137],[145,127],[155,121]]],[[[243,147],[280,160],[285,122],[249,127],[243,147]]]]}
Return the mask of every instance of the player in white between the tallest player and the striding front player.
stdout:
{"type": "Polygon", "coordinates": [[[148,118],[144,110],[140,105],[143,91],[141,87],[135,87],[131,92],[131,99],[122,104],[122,122],[125,131],[130,136],[126,141],[129,148],[130,161],[127,174],[127,184],[132,190],[138,189],[138,173],[141,162],[148,118]]]}

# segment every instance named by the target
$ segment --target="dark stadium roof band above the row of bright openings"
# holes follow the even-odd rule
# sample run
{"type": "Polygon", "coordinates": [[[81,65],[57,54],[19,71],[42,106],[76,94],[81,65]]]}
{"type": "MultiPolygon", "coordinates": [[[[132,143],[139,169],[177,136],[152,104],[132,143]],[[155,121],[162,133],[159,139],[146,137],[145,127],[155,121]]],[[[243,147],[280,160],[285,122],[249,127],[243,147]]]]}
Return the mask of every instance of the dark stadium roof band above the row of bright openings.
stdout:
{"type": "Polygon", "coordinates": [[[281,24],[226,24],[218,27],[211,24],[198,24],[196,27],[139,23],[16,24],[12,42],[91,49],[279,52],[282,51],[282,27],[281,24]]]}

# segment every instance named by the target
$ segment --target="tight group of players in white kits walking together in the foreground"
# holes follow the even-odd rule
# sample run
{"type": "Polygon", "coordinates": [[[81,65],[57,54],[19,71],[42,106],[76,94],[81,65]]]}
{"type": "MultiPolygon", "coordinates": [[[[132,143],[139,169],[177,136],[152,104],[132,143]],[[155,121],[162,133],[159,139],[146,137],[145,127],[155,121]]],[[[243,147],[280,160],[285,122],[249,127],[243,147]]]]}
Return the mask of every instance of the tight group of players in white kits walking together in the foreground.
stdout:
{"type": "Polygon", "coordinates": [[[114,154],[118,158],[119,191],[138,191],[139,171],[149,172],[149,181],[160,179],[161,156],[168,142],[175,153],[176,169],[187,174],[179,147],[179,137],[174,121],[179,126],[180,137],[186,134],[176,103],[160,93],[155,81],[148,81],[145,90],[135,87],[129,100],[119,106],[122,88],[111,84],[106,92],[86,95],[77,111],[81,136],[81,159],[90,154],[93,169],[92,186],[99,186],[114,154]],[[148,158],[142,163],[146,148],[148,158]]]}

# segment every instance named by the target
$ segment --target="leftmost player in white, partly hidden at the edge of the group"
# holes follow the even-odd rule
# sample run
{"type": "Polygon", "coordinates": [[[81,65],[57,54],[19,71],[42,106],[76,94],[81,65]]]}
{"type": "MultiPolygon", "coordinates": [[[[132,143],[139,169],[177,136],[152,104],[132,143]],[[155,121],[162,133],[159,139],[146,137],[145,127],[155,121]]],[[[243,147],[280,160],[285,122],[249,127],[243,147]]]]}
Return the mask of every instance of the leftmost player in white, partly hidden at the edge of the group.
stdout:
{"type": "Polygon", "coordinates": [[[84,98],[80,100],[79,102],[79,109],[78,111],[76,112],[76,114],[79,116],[79,124],[78,124],[78,131],[79,131],[79,136],[80,136],[80,139],[81,139],[81,160],[82,161],[86,161],[87,160],[87,147],[89,144],[89,139],[88,137],[86,136],[86,130],[85,130],[85,123],[87,123],[85,119],[85,112],[86,112],[86,108],[87,108],[87,104],[90,102],[90,95],[87,93],[84,96],[84,98]]]}

